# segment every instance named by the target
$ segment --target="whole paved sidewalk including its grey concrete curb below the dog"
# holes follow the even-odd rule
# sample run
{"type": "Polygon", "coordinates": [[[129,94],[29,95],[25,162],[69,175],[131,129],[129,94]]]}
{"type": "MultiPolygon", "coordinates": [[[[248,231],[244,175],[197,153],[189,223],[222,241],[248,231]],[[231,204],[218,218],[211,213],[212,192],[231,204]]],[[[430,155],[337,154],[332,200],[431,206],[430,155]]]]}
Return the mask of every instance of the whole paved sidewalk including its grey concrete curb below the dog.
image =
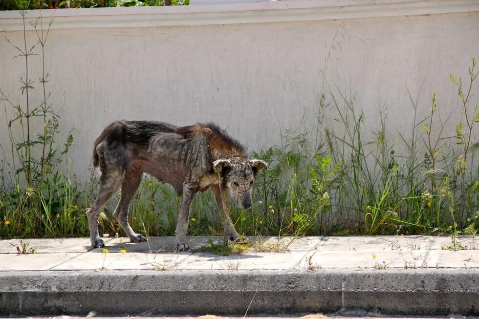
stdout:
{"type": "MultiPolygon", "coordinates": [[[[479,315],[477,239],[450,237],[250,238],[240,255],[172,251],[105,238],[0,241],[0,315],[347,313],[479,315]],[[268,249],[277,252],[265,252],[268,249]]],[[[212,237],[215,243],[220,238],[212,237]]],[[[208,246],[192,237],[190,248],[208,246]]]]}

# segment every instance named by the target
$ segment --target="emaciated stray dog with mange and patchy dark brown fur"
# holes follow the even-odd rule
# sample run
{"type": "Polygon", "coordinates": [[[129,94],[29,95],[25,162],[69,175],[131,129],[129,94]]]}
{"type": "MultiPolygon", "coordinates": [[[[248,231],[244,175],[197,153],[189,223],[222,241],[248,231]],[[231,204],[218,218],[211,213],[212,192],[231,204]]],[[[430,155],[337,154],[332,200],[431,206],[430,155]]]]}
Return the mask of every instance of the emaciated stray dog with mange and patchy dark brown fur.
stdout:
{"type": "Polygon", "coordinates": [[[107,126],[95,140],[93,166],[100,167],[100,191],[87,211],[91,247],[105,247],[98,234],[98,216],[111,196],[121,187],[121,198],[113,213],[131,242],[146,241],[128,223],[128,207],[142,174],[173,186],[182,195],[176,225],[177,250],[188,250],[185,242],[190,206],[197,191],[211,189],[224,215],[228,239],[240,241],[229,216],[226,190],[236,205],[248,209],[258,171],[268,163],[248,159],[244,148],[216,124],[176,127],[153,121],[117,121],[107,126]]]}

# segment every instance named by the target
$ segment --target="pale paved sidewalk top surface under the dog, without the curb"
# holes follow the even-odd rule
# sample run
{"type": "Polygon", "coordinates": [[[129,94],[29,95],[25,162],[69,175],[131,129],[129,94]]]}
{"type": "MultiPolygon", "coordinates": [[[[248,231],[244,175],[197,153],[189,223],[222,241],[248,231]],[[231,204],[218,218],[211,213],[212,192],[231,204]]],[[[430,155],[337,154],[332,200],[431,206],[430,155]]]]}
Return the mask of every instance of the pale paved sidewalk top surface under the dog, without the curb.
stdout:
{"type": "MultiPolygon", "coordinates": [[[[479,268],[479,236],[458,236],[467,250],[450,251],[451,237],[326,236],[250,237],[253,247],[235,255],[174,253],[174,237],[151,237],[147,243],[105,238],[108,254],[91,249],[88,238],[24,239],[35,254],[17,255],[20,240],[0,241],[0,271],[231,269],[282,270],[308,268],[479,268]],[[442,249],[441,249],[442,248],[442,249]],[[471,249],[476,248],[476,249],[471,249]],[[268,249],[279,252],[264,252],[268,249]],[[120,251],[126,251],[121,253],[120,251]]],[[[211,237],[218,243],[219,237],[211,237]]],[[[192,250],[208,246],[208,238],[192,237],[192,250]]]]}

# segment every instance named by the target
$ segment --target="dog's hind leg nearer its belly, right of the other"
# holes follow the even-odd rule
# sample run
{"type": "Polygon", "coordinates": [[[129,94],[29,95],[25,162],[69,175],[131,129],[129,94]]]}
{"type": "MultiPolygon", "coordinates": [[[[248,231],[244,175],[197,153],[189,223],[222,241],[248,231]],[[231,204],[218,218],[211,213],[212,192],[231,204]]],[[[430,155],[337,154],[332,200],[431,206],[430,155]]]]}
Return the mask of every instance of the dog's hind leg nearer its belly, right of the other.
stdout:
{"type": "Polygon", "coordinates": [[[129,168],[121,184],[121,198],[118,206],[113,213],[121,228],[125,231],[130,241],[134,243],[147,241],[142,234],[136,234],[128,223],[128,208],[133,199],[136,190],[140,186],[142,172],[136,168],[129,168]]]}

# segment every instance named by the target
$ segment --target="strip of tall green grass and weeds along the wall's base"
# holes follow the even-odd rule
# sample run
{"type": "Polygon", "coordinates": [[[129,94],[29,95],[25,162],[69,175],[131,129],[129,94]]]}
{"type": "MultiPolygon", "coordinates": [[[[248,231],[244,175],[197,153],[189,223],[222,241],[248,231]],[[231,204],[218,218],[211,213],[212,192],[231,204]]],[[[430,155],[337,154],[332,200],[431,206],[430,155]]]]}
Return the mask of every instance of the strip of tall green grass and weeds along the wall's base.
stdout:
{"type": "MultiPolygon", "coordinates": [[[[48,30],[45,38],[39,32],[32,49],[26,42],[24,47],[14,45],[25,66],[36,45],[41,45],[43,61],[47,35],[48,30]]],[[[354,105],[355,96],[324,82],[324,94],[314,110],[316,125],[304,121],[296,131],[280,127],[280,145],[252,154],[270,165],[258,175],[254,207],[243,211],[231,205],[238,232],[301,236],[477,231],[479,167],[474,131],[479,113],[470,101],[479,74],[475,59],[468,74],[464,82],[451,76],[451,85],[457,87],[455,111],[463,115],[454,132],[446,131],[449,119],[442,120],[435,93],[430,105],[418,106],[417,99],[404,92],[411,104],[400,107],[414,114],[408,138],[391,130],[386,108],[377,106],[380,123],[373,141],[364,136],[365,117],[354,105]],[[420,107],[430,107],[430,114],[419,118],[420,107]],[[402,145],[392,143],[393,136],[398,136],[402,145]]],[[[85,212],[96,195],[98,181],[93,173],[83,184],[72,176],[68,154],[74,136],[70,132],[65,141],[59,140],[62,120],[47,101],[48,74],[44,69],[40,79],[42,101],[30,101],[28,91],[33,85],[28,76],[21,80],[22,102],[9,100],[0,87],[5,114],[11,113],[7,109],[14,111],[6,122],[11,144],[9,149],[1,148],[0,237],[87,236],[85,212]],[[33,131],[39,123],[43,123],[42,129],[33,131]],[[13,133],[18,131],[22,133],[13,133]]],[[[101,214],[102,234],[124,235],[111,214],[118,197],[101,214]]],[[[131,203],[129,220],[133,229],[144,235],[174,235],[179,207],[180,199],[170,186],[148,177],[131,203]]],[[[189,234],[221,235],[219,216],[211,192],[198,193],[189,234]]]]}

